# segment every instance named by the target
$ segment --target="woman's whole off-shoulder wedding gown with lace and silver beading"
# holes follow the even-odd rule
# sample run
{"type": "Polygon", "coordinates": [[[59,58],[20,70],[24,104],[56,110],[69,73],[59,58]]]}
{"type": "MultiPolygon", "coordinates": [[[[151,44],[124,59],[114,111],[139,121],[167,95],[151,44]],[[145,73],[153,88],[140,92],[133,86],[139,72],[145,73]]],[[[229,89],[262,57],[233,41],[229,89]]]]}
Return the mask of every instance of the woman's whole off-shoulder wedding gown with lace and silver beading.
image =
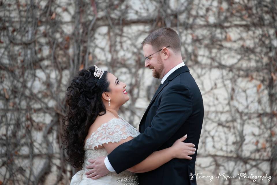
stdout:
{"type": "Polygon", "coordinates": [[[123,171],[119,174],[116,172],[110,172],[108,175],[100,177],[97,180],[92,180],[86,177],[85,173],[90,169],[86,166],[91,164],[88,159],[95,159],[101,156],[107,156],[108,153],[104,148],[98,148],[103,143],[118,143],[122,139],[127,137],[136,137],[140,133],[127,121],[119,116],[119,119],[113,118],[107,123],[102,124],[85,143],[85,157],[83,169],[78,171],[71,179],[70,185],[138,185],[138,177],[136,173],[130,171],[123,171]],[[96,147],[96,149],[95,149],[96,147]]]}

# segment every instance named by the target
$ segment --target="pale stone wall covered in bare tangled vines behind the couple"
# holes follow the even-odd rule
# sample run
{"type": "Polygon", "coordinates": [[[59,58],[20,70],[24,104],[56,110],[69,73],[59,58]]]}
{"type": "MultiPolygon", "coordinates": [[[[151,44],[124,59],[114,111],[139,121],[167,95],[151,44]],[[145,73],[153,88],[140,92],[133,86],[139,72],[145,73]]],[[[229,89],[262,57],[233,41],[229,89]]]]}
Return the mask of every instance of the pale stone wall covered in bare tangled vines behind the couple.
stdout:
{"type": "Polygon", "coordinates": [[[80,69],[96,64],[125,82],[120,113],[138,127],[160,83],[141,42],[158,27],[179,34],[203,95],[196,173],[214,178],[197,182],[252,184],[238,174],[253,173],[276,184],[276,16],[276,0],[1,0],[0,184],[70,182],[62,118],[80,69]]]}

